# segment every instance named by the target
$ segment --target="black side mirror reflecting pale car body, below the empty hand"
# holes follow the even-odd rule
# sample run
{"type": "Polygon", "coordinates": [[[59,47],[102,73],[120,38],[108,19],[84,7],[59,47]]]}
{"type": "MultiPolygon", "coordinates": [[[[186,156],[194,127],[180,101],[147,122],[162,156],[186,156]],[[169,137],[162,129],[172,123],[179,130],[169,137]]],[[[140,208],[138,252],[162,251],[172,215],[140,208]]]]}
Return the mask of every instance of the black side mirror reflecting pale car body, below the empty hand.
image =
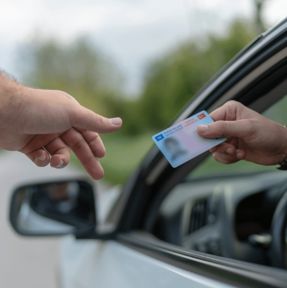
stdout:
{"type": "Polygon", "coordinates": [[[93,188],[80,180],[19,187],[10,206],[10,222],[22,235],[93,233],[95,215],[93,188]]]}

